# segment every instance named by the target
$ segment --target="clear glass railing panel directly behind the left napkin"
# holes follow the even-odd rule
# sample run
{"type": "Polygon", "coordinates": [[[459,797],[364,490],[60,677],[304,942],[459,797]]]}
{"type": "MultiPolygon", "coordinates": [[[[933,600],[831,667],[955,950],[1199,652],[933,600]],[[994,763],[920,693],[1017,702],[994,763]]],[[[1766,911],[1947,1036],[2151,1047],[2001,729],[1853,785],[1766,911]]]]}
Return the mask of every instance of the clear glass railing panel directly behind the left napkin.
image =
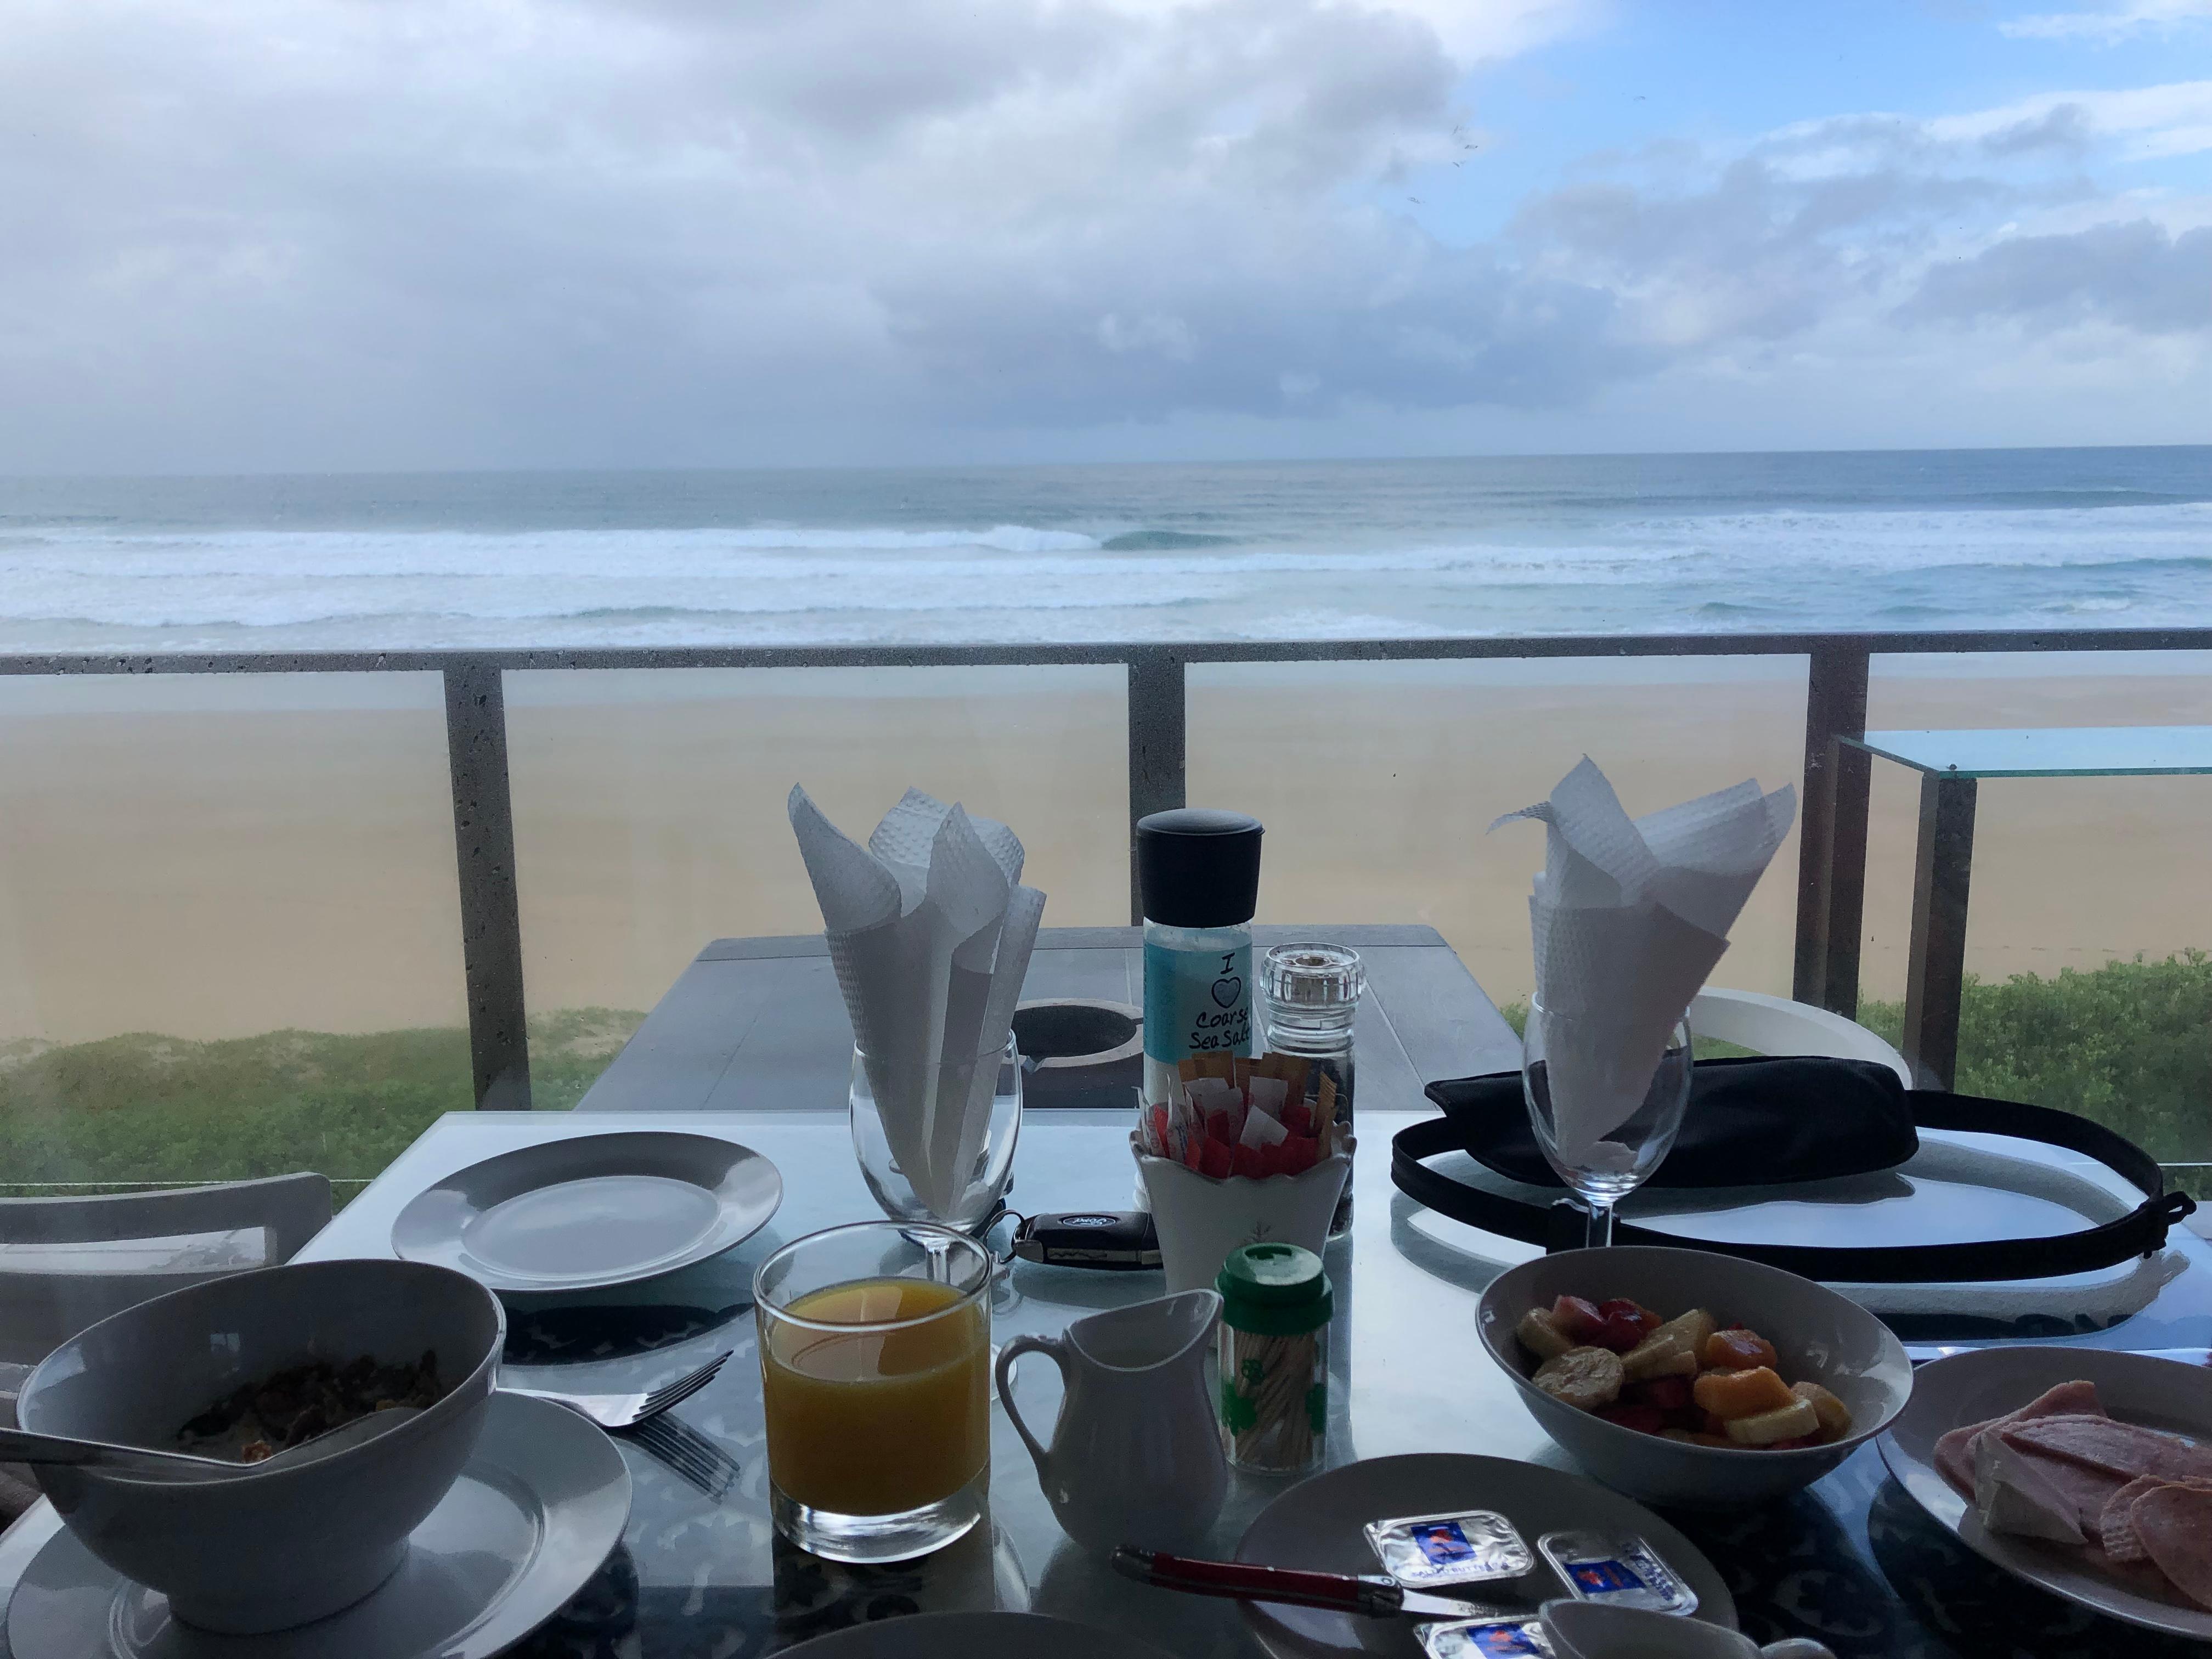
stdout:
{"type": "Polygon", "coordinates": [[[1126,684],[1117,666],[509,675],[533,1102],[573,1106],[708,940],[821,933],[794,783],[860,841],[907,785],[1002,818],[1046,927],[1126,925],[1126,684]]]}

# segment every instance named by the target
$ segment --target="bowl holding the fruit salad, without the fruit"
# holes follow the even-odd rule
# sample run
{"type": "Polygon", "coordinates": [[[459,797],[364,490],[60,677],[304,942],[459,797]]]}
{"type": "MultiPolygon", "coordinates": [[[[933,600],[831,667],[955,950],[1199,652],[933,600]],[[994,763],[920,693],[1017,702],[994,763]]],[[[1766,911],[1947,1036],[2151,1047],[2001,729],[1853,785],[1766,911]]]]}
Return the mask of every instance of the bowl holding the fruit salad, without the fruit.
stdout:
{"type": "Polygon", "coordinates": [[[1865,1307],[1812,1279],[1712,1250],[1621,1245],[1537,1256],[1491,1281],[1475,1323],[1544,1433],[1597,1480],[1655,1504],[1730,1506],[1807,1486],[1878,1436],[1913,1389],[1905,1347],[1865,1307]],[[1559,1296],[1626,1296],[1661,1318],[1703,1307],[1723,1325],[1750,1325],[1774,1343],[1783,1380],[1829,1389],[1851,1409],[1851,1427],[1814,1447],[1703,1447],[1566,1405],[1528,1380],[1537,1360],[1513,1334],[1526,1312],[1559,1296]]]}

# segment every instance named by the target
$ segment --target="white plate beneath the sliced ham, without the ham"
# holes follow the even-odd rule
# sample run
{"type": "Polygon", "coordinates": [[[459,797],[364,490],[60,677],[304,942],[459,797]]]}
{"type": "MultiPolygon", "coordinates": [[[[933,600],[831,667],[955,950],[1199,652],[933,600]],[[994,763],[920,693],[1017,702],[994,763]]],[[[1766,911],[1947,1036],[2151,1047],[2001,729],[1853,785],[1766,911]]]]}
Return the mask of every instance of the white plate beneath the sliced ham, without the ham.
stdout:
{"type": "Polygon", "coordinates": [[[2108,1347],[1984,1347],[1920,1367],[1911,1402],[1876,1442],[1882,1462],[1929,1515],[2006,1573],[2115,1619],[2212,1641],[2212,1613],[2137,1595],[2062,1544],[1991,1533],[1966,1495],[1936,1469],[1936,1440],[1951,1429],[2002,1418],[2077,1378],[2097,1385],[2097,1400],[2115,1418],[2212,1440],[2212,1374],[2201,1365],[2108,1347]]]}

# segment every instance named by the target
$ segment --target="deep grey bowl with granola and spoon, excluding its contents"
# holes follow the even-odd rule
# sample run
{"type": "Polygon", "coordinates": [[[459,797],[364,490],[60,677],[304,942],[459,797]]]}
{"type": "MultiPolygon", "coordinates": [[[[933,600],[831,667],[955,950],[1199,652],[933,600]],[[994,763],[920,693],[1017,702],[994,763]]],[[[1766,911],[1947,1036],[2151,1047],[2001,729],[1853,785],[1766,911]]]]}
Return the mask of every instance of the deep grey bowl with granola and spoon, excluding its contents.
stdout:
{"type": "Polygon", "coordinates": [[[38,1469],[102,1562],[161,1590],[184,1624],[257,1635],[352,1606],[398,1571],[407,1535],[460,1478],[500,1365],[498,1296],[451,1267],[316,1261],[155,1296],[49,1354],[15,1400],[24,1429],[175,1449],[243,1385],[307,1360],[438,1356],[445,1394],[325,1458],[217,1480],[38,1469]]]}

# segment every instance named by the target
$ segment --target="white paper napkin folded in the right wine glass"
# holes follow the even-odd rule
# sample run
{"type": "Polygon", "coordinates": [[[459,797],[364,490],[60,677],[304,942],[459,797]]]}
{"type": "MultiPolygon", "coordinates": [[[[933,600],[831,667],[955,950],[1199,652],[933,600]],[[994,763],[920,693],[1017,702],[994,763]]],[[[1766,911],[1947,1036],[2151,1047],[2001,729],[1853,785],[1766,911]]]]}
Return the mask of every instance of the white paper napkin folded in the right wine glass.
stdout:
{"type": "Polygon", "coordinates": [[[1752,887],[1790,834],[1796,792],[1756,781],[1630,818],[1590,757],[1548,801],[1504,818],[1546,825],[1528,898],[1535,1000],[1553,1015],[1559,1155],[1604,1161],[1601,1141],[1650,1088],[1674,1024],[1728,949],[1752,887]]]}

